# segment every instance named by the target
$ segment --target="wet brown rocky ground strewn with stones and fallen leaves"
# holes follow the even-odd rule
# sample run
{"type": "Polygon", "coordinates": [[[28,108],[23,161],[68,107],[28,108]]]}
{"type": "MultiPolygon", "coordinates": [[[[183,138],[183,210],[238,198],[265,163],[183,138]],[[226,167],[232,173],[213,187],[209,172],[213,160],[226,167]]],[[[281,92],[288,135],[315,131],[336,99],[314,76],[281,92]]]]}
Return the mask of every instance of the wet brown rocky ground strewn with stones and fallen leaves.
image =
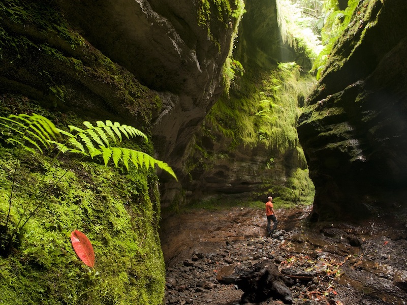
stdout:
{"type": "MultiPolygon", "coordinates": [[[[386,222],[318,223],[310,207],[277,210],[266,237],[263,210],[194,210],[161,225],[167,265],[166,304],[243,303],[238,285],[222,284],[225,268],[275,264],[293,304],[407,303],[407,230],[386,222]],[[231,267],[230,267],[231,266],[231,267]]],[[[271,297],[257,304],[283,304],[271,297]]]]}

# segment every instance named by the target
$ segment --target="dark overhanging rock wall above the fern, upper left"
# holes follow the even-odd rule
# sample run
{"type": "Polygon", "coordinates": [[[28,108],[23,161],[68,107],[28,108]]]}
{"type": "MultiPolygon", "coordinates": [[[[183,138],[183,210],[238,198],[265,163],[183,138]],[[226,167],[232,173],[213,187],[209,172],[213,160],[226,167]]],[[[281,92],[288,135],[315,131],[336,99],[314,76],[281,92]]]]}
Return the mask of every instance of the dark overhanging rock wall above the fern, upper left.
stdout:
{"type": "MultiPolygon", "coordinates": [[[[187,143],[223,92],[222,67],[237,26],[233,10],[241,2],[51,1],[60,16],[19,3],[34,18],[4,14],[3,33],[30,43],[14,49],[12,37],[4,40],[2,92],[137,126],[151,134],[156,157],[181,174],[187,143]]],[[[163,204],[180,190],[165,174],[161,186],[163,204]]]]}

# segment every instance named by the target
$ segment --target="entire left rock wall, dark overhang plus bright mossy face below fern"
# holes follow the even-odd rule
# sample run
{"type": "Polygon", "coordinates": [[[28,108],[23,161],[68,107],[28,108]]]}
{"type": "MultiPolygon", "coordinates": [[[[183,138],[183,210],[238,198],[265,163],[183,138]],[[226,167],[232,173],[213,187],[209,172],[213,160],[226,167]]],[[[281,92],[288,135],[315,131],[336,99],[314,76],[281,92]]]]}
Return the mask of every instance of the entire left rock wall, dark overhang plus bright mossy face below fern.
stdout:
{"type": "MultiPolygon", "coordinates": [[[[135,142],[134,148],[149,154],[156,150],[158,159],[177,170],[186,143],[222,92],[236,3],[2,1],[0,116],[35,112],[61,128],[82,126],[85,119],[117,120],[153,138],[135,142]]],[[[20,158],[6,136],[0,134],[3,231],[13,179],[10,167],[20,158]]],[[[65,168],[68,159],[60,166],[65,168]]],[[[31,176],[43,176],[51,164],[45,158],[20,161],[19,169],[29,175],[21,178],[25,184],[18,177],[9,227],[18,222],[23,200],[33,191],[37,180],[31,176]]],[[[52,169],[59,173],[59,167],[52,169]]],[[[55,196],[47,195],[46,208],[27,222],[29,229],[16,251],[5,255],[2,243],[0,265],[18,277],[13,282],[4,273],[2,301],[163,302],[158,177],[146,171],[123,175],[112,170],[113,175],[103,169],[86,162],[70,168],[66,177],[73,176],[75,183],[50,186],[55,196]],[[97,257],[93,273],[75,256],[67,239],[71,229],[82,229],[92,239],[97,257]]]]}

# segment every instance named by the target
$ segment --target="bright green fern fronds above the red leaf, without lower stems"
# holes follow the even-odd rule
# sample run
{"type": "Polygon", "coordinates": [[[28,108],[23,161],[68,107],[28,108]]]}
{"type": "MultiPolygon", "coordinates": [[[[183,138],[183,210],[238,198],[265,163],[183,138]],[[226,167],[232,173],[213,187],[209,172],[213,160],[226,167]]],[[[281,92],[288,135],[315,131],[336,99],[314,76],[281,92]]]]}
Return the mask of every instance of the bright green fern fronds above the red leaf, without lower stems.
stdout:
{"type": "MultiPolygon", "coordinates": [[[[22,137],[19,137],[20,139],[32,144],[41,153],[43,153],[41,145],[50,148],[51,144],[54,144],[61,153],[75,153],[92,159],[101,155],[106,166],[110,160],[113,160],[116,167],[119,161],[122,161],[128,170],[130,162],[137,168],[144,166],[147,170],[150,166],[157,165],[176,178],[175,173],[165,162],[156,160],[138,150],[110,146],[111,141],[115,144],[121,142],[123,136],[127,139],[140,136],[147,141],[147,136],[138,129],[132,126],[120,125],[117,122],[112,123],[110,120],[106,120],[106,123],[97,121],[97,126],[93,126],[88,121],[84,121],[83,124],[87,129],[70,125],[70,132],[67,132],[56,128],[49,119],[38,114],[0,117],[0,125],[20,135],[22,137]],[[1,120],[7,121],[8,124],[2,123],[1,120]],[[56,135],[64,138],[65,143],[56,141],[56,135]]],[[[32,147],[28,147],[20,139],[11,137],[9,142],[18,143],[23,148],[34,152],[32,147]]]]}

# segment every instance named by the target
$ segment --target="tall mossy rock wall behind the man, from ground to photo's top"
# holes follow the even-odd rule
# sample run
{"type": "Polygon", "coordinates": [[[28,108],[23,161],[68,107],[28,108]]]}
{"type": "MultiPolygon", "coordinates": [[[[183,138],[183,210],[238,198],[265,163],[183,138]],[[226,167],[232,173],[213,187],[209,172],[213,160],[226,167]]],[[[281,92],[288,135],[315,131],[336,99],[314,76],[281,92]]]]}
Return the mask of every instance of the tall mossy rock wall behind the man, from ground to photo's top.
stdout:
{"type": "Polygon", "coordinates": [[[217,101],[222,106],[212,108],[188,149],[182,180],[186,199],[247,202],[271,194],[284,202],[304,202],[313,189],[295,123],[298,99],[314,79],[277,63],[298,60],[309,69],[309,59],[281,41],[275,0],[246,1],[245,8],[233,52],[245,72],[236,73],[229,94],[217,101]],[[263,109],[262,101],[273,106],[263,109]],[[294,177],[298,173],[303,176],[294,177]]]}

